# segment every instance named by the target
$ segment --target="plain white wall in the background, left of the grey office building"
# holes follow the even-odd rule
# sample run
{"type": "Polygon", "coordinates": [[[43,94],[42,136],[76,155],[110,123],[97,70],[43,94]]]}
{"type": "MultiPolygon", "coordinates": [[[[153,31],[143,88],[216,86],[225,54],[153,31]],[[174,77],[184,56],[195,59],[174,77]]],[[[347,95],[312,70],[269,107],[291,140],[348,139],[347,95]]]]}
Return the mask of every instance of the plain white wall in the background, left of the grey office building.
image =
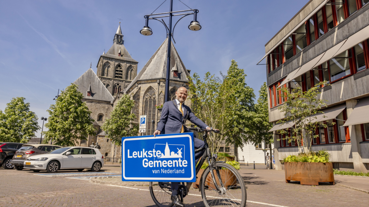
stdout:
{"type": "MultiPolygon", "coordinates": [[[[264,143],[262,143],[262,146],[264,147],[264,143]]],[[[272,144],[272,149],[274,148],[274,145],[272,144]]],[[[264,152],[263,150],[256,150],[256,147],[254,144],[249,143],[249,144],[245,144],[243,147],[243,151],[241,150],[241,148],[238,148],[238,159],[242,160],[243,158],[245,159],[245,163],[249,162],[249,164],[251,163],[259,163],[259,164],[264,164],[265,163],[265,158],[264,158],[264,152]],[[242,158],[243,156],[243,158],[242,158]]],[[[268,149],[269,154],[270,154],[270,150],[268,149]]],[[[272,150],[273,152],[273,150],[272,150]]],[[[266,155],[266,152],[265,152],[266,155]]],[[[242,162],[242,161],[241,161],[242,162]]]]}

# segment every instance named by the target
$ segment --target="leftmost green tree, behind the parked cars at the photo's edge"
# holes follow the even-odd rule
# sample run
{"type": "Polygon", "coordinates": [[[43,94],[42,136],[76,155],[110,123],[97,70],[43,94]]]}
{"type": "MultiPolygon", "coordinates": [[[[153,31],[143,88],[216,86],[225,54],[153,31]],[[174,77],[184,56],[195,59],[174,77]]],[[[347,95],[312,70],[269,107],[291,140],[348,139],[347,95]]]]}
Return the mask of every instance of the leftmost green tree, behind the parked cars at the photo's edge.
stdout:
{"type": "Polygon", "coordinates": [[[30,111],[30,103],[23,97],[12,98],[4,112],[0,110],[0,142],[28,143],[41,129],[37,116],[30,111]]]}

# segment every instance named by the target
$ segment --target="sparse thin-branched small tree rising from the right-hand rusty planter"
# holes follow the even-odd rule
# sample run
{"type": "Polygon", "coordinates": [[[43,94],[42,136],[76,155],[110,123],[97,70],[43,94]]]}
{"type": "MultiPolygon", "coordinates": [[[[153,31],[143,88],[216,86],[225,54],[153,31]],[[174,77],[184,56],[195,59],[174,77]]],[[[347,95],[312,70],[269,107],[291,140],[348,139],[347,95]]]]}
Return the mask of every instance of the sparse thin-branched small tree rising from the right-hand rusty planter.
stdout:
{"type": "Polygon", "coordinates": [[[280,94],[284,94],[286,97],[284,104],[279,107],[280,112],[284,113],[286,118],[278,121],[277,124],[292,121],[294,126],[290,129],[291,133],[288,133],[288,129],[278,130],[278,132],[286,134],[284,139],[288,140],[289,143],[293,141],[297,143],[299,148],[302,146],[306,154],[311,151],[313,138],[319,137],[315,133],[317,127],[327,128],[327,124],[319,122],[316,117],[317,113],[323,113],[320,109],[327,106],[326,100],[318,98],[321,93],[321,85],[327,85],[327,81],[316,84],[308,91],[303,91],[299,87],[294,88],[291,92],[286,87],[279,89],[280,94]]]}

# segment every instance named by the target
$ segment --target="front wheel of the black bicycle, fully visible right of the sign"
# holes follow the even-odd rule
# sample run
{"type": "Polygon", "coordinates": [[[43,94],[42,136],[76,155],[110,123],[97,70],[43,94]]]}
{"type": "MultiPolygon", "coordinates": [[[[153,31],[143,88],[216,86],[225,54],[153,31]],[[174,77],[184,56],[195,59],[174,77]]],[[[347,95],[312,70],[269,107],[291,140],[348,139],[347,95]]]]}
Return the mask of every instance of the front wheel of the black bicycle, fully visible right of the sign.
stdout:
{"type": "Polygon", "coordinates": [[[215,163],[214,166],[215,183],[210,168],[204,171],[201,180],[200,190],[205,206],[246,206],[246,187],[239,172],[226,163],[215,163]],[[221,192],[217,192],[215,185],[221,192]]]}

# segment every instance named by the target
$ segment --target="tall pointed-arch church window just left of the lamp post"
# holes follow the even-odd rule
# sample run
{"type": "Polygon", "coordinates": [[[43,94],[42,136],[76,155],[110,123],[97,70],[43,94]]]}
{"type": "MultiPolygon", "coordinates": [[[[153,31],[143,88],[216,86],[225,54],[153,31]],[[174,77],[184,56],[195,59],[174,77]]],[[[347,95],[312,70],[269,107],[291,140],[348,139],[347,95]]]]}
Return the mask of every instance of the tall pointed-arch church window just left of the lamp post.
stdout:
{"type": "Polygon", "coordinates": [[[151,120],[155,120],[155,112],[156,112],[156,94],[153,88],[150,88],[146,94],[144,95],[144,115],[147,115],[147,130],[146,133],[143,133],[144,135],[150,135],[151,134],[151,120]]]}

